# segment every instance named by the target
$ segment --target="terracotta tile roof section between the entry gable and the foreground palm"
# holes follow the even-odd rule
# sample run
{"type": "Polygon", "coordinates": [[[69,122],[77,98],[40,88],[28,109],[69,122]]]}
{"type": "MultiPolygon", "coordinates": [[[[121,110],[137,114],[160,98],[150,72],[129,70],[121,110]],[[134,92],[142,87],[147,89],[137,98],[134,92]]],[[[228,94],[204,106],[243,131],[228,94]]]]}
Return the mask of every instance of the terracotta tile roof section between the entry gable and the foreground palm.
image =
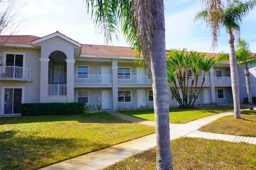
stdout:
{"type": "Polygon", "coordinates": [[[133,50],[130,47],[101,46],[82,44],[81,54],[98,56],[121,56],[134,57],[133,50]]]}

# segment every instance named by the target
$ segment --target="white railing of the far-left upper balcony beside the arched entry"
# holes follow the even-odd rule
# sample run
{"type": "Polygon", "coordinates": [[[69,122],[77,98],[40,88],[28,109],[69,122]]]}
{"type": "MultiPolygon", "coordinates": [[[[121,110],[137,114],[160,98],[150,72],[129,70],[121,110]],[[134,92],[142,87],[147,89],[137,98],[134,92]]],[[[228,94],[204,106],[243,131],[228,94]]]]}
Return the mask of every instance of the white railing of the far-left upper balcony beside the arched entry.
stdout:
{"type": "Polygon", "coordinates": [[[0,66],[0,78],[31,80],[31,69],[16,66],[0,66]]]}

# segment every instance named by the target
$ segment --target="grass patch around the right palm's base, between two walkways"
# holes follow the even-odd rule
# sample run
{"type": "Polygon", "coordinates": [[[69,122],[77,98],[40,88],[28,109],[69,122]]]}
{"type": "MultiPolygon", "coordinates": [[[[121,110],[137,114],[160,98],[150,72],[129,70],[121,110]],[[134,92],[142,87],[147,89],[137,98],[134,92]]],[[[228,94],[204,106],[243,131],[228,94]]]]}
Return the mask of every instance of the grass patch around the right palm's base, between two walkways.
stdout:
{"type": "MultiPolygon", "coordinates": [[[[256,110],[254,112],[256,113],[256,110]]],[[[203,132],[256,137],[256,116],[241,115],[241,119],[235,119],[233,115],[225,116],[202,126],[199,130],[203,132]]]]}

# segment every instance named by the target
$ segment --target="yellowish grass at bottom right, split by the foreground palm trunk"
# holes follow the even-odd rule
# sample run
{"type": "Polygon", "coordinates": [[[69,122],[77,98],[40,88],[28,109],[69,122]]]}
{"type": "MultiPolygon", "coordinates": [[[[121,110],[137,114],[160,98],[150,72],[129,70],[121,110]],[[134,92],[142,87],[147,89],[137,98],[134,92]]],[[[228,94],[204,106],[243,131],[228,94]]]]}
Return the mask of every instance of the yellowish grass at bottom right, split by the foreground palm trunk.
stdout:
{"type": "MultiPolygon", "coordinates": [[[[203,138],[171,141],[174,170],[255,170],[256,145],[203,138]]],[[[155,170],[156,148],[151,148],[104,170],[155,170]]]]}

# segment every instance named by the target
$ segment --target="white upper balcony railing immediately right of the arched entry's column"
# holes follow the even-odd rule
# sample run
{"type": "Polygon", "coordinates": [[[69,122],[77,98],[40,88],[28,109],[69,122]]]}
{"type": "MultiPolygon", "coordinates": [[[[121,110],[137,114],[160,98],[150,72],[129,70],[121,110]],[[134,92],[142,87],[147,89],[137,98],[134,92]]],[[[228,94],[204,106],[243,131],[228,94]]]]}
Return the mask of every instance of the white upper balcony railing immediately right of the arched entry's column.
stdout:
{"type": "Polygon", "coordinates": [[[75,84],[111,84],[112,75],[74,74],[75,84]]]}

